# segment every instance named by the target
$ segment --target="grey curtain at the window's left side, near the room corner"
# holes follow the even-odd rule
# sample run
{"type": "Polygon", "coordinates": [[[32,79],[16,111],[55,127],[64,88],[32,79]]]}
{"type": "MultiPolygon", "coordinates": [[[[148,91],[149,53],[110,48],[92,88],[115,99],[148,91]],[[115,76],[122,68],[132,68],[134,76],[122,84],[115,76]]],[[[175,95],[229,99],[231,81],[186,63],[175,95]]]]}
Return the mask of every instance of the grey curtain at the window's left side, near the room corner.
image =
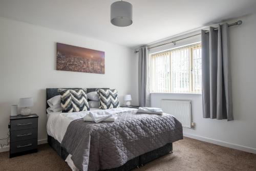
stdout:
{"type": "Polygon", "coordinates": [[[139,105],[150,106],[150,92],[148,87],[148,50],[139,49],[139,105]]]}

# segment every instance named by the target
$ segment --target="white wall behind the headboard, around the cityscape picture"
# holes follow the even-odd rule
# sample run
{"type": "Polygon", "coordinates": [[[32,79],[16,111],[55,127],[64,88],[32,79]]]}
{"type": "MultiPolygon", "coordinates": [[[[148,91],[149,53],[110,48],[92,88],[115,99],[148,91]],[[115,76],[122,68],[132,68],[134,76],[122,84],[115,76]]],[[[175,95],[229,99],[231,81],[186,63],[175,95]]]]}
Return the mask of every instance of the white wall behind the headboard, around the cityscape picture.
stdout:
{"type": "Polygon", "coordinates": [[[121,102],[123,95],[132,94],[137,104],[134,66],[131,49],[0,18],[0,139],[8,132],[11,105],[22,97],[33,97],[38,140],[47,139],[46,88],[116,88],[121,102]],[[104,51],[105,74],[56,71],[56,42],[104,51]]]}

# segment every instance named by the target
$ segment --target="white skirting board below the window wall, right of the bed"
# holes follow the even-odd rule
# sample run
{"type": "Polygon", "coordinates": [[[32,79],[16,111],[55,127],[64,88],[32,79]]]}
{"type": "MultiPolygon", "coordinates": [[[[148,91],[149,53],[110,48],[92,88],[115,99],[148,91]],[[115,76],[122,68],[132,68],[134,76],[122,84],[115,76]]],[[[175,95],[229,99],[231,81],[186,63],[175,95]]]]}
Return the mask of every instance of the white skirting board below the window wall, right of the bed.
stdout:
{"type": "Polygon", "coordinates": [[[204,142],[209,142],[209,143],[212,143],[212,144],[217,144],[217,145],[220,145],[220,146],[225,146],[225,147],[229,147],[229,148],[233,148],[233,149],[238,149],[238,150],[248,152],[248,153],[256,154],[256,148],[252,148],[252,147],[248,147],[248,146],[244,146],[244,145],[233,144],[233,143],[229,143],[229,142],[225,142],[225,141],[215,140],[215,139],[202,137],[202,136],[197,136],[197,135],[193,135],[193,134],[187,134],[187,133],[183,133],[183,136],[188,137],[188,138],[197,139],[197,140],[204,141],[204,142]]]}

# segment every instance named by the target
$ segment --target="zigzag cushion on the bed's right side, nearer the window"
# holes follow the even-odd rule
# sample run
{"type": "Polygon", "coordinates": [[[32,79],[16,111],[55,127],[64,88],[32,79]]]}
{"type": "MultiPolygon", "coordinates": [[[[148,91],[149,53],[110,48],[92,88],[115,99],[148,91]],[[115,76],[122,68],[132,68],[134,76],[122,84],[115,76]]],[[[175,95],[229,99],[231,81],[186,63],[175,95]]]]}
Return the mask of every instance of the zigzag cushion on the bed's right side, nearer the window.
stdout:
{"type": "Polygon", "coordinates": [[[96,89],[99,95],[99,109],[119,108],[117,90],[96,89]]]}

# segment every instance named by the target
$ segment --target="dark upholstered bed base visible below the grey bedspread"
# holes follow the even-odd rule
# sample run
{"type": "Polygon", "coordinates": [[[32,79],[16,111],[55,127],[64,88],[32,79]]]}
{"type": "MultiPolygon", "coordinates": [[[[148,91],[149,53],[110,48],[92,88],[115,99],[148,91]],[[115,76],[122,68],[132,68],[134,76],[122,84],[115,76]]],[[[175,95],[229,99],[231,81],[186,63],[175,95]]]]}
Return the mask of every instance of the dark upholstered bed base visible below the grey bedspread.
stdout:
{"type": "MultiPolygon", "coordinates": [[[[63,159],[66,160],[69,153],[66,151],[65,148],[60,146],[60,143],[55,140],[53,137],[48,135],[48,143],[49,145],[57,152],[57,154],[63,159]]],[[[133,168],[143,166],[144,164],[151,162],[152,160],[155,160],[161,156],[164,156],[166,154],[173,152],[173,143],[168,143],[164,145],[163,147],[160,147],[158,149],[155,149],[151,152],[145,153],[143,155],[140,155],[138,157],[135,157],[129,161],[127,161],[125,164],[123,164],[120,167],[111,168],[111,169],[104,169],[101,171],[128,171],[132,170],[133,168]]]]}

